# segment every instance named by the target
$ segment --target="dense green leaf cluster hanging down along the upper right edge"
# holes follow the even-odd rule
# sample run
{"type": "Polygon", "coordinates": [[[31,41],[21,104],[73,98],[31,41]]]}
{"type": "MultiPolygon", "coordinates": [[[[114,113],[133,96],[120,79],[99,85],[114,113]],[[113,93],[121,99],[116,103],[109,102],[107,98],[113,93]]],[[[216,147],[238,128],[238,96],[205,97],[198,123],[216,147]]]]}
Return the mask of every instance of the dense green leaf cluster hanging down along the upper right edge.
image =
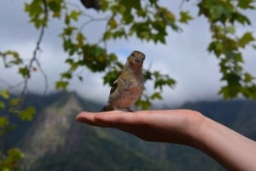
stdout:
{"type": "Polygon", "coordinates": [[[254,77],[244,71],[241,53],[243,48],[255,43],[255,37],[252,31],[244,32],[241,37],[236,34],[237,25],[251,25],[251,21],[241,11],[255,9],[253,1],[203,0],[198,6],[199,14],[207,17],[211,27],[212,42],[208,51],[218,58],[221,80],[226,83],[218,93],[224,99],[236,98],[242,94],[256,100],[254,77]]]}

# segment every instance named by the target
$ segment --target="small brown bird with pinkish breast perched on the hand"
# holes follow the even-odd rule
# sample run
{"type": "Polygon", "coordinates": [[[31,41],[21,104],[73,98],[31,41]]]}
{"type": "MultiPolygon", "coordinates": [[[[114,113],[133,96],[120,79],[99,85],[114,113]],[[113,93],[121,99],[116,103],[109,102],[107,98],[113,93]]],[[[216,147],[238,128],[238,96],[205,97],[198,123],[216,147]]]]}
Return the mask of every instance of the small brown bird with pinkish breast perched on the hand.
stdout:
{"type": "Polygon", "coordinates": [[[110,90],[108,103],[102,111],[113,111],[116,109],[127,109],[143,94],[143,61],[145,54],[140,51],[133,51],[127,58],[124,69],[119,77],[113,82],[110,90]]]}

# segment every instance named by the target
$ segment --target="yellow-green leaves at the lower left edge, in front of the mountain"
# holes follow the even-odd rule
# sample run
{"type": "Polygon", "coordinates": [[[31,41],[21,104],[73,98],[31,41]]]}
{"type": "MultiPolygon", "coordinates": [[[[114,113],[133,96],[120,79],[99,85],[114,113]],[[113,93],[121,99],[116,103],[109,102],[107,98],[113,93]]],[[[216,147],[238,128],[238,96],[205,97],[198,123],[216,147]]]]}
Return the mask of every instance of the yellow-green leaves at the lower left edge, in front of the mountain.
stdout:
{"type": "MultiPolygon", "coordinates": [[[[20,109],[22,99],[12,98],[9,91],[3,89],[0,91],[0,138],[6,139],[5,134],[12,131],[16,125],[14,119],[18,117],[20,120],[31,121],[35,114],[35,108],[29,106],[25,109],[20,109]]],[[[3,141],[5,143],[6,141],[3,141]]],[[[0,151],[0,170],[20,170],[19,161],[22,158],[20,149],[11,148],[5,149],[5,145],[0,151]]]]}

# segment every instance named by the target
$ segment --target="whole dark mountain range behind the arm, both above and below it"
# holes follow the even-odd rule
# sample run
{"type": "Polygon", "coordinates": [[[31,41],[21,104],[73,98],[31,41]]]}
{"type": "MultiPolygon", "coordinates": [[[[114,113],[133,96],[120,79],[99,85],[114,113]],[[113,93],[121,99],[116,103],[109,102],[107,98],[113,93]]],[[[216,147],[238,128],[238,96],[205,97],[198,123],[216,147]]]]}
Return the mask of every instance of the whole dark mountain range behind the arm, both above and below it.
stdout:
{"type": "MultiPolygon", "coordinates": [[[[75,93],[44,97],[37,104],[37,117],[21,126],[24,131],[15,137],[14,142],[19,142],[17,145],[25,153],[24,170],[225,170],[211,157],[188,146],[146,142],[113,128],[76,122],[79,111],[99,111],[101,108],[101,104],[84,100],[75,93]]],[[[201,111],[256,139],[254,101],[201,101],[186,103],[180,108],[201,111]]]]}

